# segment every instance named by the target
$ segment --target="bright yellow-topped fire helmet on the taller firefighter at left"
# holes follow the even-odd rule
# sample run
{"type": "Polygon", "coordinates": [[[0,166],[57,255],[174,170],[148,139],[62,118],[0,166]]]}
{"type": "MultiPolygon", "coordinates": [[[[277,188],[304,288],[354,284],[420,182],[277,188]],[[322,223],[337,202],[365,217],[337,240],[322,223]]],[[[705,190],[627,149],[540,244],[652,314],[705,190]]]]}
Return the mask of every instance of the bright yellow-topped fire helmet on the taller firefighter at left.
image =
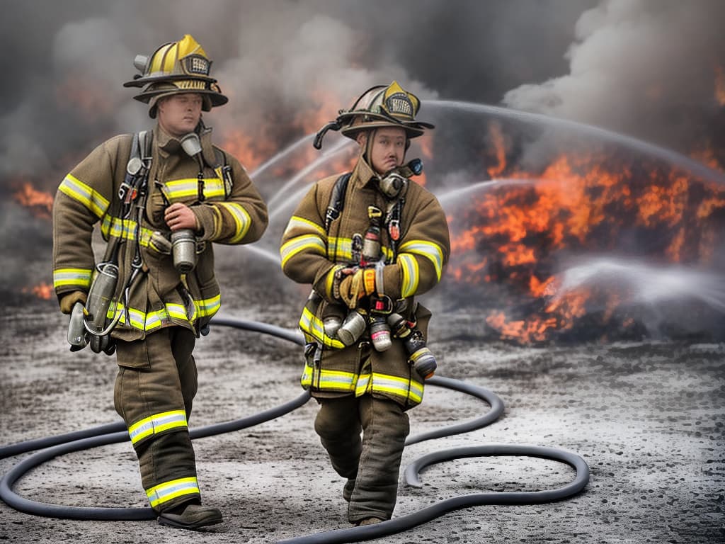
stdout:
{"type": "Polygon", "coordinates": [[[156,117],[156,102],[161,96],[181,93],[199,93],[208,112],[215,106],[226,104],[228,98],[221,93],[217,80],[210,77],[212,61],[191,35],[179,41],[170,41],[159,47],[151,57],[137,55],[133,65],[140,72],[124,87],[143,87],[133,98],[149,104],[149,115],[156,117]]]}

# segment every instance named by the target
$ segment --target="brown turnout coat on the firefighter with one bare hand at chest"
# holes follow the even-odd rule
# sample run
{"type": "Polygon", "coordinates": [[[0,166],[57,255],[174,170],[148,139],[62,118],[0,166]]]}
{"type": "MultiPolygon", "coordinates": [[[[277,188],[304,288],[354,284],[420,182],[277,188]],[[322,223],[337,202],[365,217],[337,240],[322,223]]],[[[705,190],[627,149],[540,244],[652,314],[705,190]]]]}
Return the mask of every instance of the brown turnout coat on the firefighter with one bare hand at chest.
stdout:
{"type": "Polygon", "coordinates": [[[119,279],[108,318],[121,313],[112,336],[132,341],[158,329],[178,325],[199,331],[220,308],[212,244],[247,244],[267,228],[267,207],[238,160],[212,147],[210,129],[200,135],[204,157],[188,156],[178,139],[157,125],[153,131],[148,197],[137,224],[136,213],[120,216],[119,189],[132,147],[132,134],[115,136],[96,147],[60,184],[54,202],[53,283],[59,299],[72,291],[88,292],[96,260],[92,247],[95,223],[107,242],[104,260],[118,248],[119,279]],[[223,159],[224,164],[219,164],[223,159]],[[223,165],[233,184],[225,184],[223,165]],[[199,199],[200,192],[203,199],[199,199]],[[201,200],[201,202],[199,202],[201,200]],[[180,275],[173,265],[163,221],[167,203],[183,202],[194,210],[199,231],[197,264],[180,275]],[[142,268],[123,297],[132,272],[136,244],[142,268]],[[128,304],[128,308],[126,305],[128,304]],[[125,311],[125,310],[128,310],[125,311]],[[127,319],[128,316],[128,319],[127,319]]]}

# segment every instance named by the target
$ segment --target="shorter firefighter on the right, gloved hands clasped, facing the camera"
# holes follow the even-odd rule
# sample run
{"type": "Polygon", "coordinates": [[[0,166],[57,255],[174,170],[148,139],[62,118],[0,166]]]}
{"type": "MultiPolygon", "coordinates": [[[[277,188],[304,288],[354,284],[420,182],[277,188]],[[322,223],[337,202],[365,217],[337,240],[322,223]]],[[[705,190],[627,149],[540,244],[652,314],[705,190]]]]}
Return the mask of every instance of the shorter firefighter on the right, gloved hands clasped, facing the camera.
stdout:
{"type": "Polygon", "coordinates": [[[419,162],[404,164],[410,139],[433,128],[415,120],[419,107],[393,81],[341,110],[315,147],[328,130],[355,140],[352,173],[312,186],[281,240],[283,272],[312,286],[299,321],[307,339],[302,386],[320,405],[315,432],[347,479],[355,525],[392,516],[407,410],[421,403],[431,374],[414,363],[434,363],[425,347],[431,313],[415,295],[440,281],[450,240],[439,202],[410,181],[419,162]]]}

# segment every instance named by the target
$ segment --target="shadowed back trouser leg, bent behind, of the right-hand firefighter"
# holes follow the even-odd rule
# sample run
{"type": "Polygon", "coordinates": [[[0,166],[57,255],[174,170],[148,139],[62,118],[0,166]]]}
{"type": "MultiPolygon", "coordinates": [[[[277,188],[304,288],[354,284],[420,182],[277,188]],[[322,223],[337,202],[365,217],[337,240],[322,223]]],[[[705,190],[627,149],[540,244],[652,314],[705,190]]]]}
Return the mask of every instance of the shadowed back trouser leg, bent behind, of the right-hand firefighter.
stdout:
{"type": "Polygon", "coordinates": [[[332,468],[344,478],[355,478],[362,448],[357,399],[352,395],[320,399],[315,432],[327,450],[332,468]]]}

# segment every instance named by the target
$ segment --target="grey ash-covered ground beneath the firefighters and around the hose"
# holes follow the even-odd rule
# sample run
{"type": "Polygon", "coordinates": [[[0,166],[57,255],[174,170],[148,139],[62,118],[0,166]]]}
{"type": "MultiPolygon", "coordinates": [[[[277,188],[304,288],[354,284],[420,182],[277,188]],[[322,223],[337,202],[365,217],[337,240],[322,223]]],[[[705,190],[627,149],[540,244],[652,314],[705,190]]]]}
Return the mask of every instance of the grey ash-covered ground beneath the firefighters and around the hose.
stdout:
{"type": "MultiPolygon", "coordinates": [[[[304,289],[278,279],[254,252],[220,252],[222,315],[294,329],[304,289]],[[239,272],[244,270],[244,277],[239,272]]],[[[30,267],[32,269],[32,267],[30,267]]],[[[545,445],[583,456],[583,493],[535,506],[476,506],[380,543],[718,543],[725,539],[725,344],[570,342],[521,347],[487,339],[483,318],[439,310],[430,342],[439,375],[486,387],[505,414],[484,429],[412,445],[402,467],[457,446],[545,445]]],[[[3,445],[118,421],[115,360],[67,349],[66,316],[53,301],[7,299],[0,316],[3,445]]],[[[212,326],[196,349],[199,394],[191,426],[231,421],[302,392],[300,348],[212,326]]],[[[488,410],[461,393],[429,387],[410,412],[411,434],[488,410]]],[[[196,440],[204,501],[225,521],[206,532],[156,522],[91,522],[22,514],[0,503],[0,540],[12,543],[270,543],[349,527],[343,480],[312,430],[315,403],[260,426],[196,440]]],[[[29,454],[0,460],[7,473],[29,454]]],[[[566,485],[570,467],[538,458],[468,458],[431,466],[423,487],[400,478],[395,516],[456,495],[566,485]]],[[[72,506],[145,507],[130,443],[102,446],[30,471],[22,497],[72,506]]]]}

